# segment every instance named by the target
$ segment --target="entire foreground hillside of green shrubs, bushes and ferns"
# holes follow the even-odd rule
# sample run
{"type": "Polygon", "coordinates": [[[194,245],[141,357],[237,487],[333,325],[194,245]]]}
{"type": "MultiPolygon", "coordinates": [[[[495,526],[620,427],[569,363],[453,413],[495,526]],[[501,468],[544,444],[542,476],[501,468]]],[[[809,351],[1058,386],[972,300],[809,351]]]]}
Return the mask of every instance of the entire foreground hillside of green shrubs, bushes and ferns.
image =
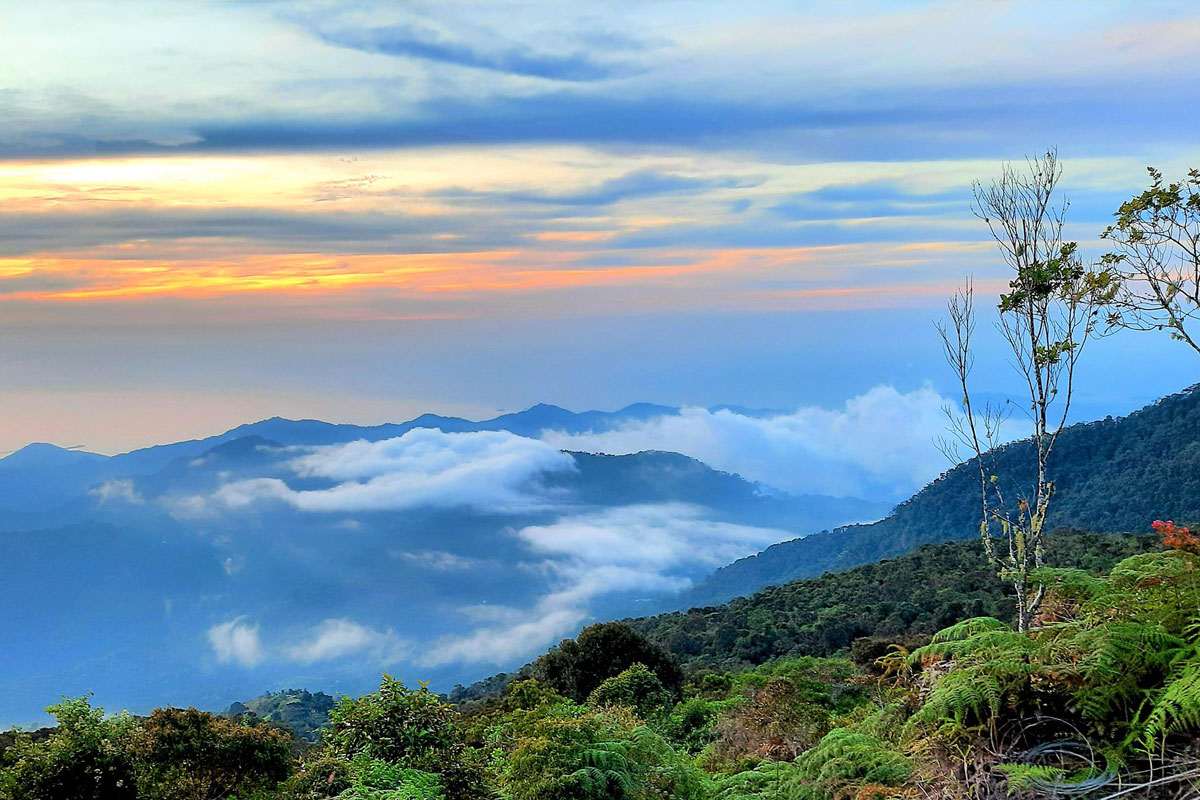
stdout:
{"type": "MultiPolygon", "coordinates": [[[[1162,545],[1054,537],[1080,566],[1042,571],[1049,593],[1025,633],[973,615],[920,646],[886,646],[913,644],[920,631],[886,634],[893,616],[881,607],[859,618],[876,620],[872,636],[848,654],[746,666],[744,654],[720,655],[720,637],[702,637],[703,652],[682,670],[635,628],[608,622],[469,706],[385,676],[377,692],[340,700],[320,742],[300,756],[290,734],[252,715],[160,709],[138,720],[68,700],[52,708],[50,735],[18,735],[4,753],[0,799],[971,798],[1115,774],[1135,786],[1151,763],[1156,777],[1172,778],[1194,769],[1200,745],[1200,539],[1159,528],[1162,545]],[[1031,733],[1033,723],[1057,728],[1031,733]],[[1097,769],[1026,754],[1063,735],[1094,747],[1097,769]]],[[[974,614],[976,600],[990,609],[990,599],[1002,610],[998,589],[964,603],[952,578],[934,581],[967,566],[968,552],[926,548],[840,577],[858,587],[846,597],[894,589],[902,599],[924,581],[947,614],[974,614]]],[[[750,625],[785,589],[834,585],[802,582],[706,613],[722,615],[713,630],[750,625]]],[[[640,625],[670,630],[686,618],[640,625]]],[[[1186,787],[1180,778],[1172,788],[1186,787]]]]}

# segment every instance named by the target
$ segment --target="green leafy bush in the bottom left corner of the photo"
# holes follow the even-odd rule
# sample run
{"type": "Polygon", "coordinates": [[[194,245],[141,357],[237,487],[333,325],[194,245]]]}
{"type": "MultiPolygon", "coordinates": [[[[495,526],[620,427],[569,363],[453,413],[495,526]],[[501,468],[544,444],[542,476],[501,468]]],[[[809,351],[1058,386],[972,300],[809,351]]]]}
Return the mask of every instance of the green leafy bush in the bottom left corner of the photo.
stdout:
{"type": "Polygon", "coordinates": [[[58,728],[35,740],[18,734],[0,763],[2,800],[133,800],[128,716],[106,717],[86,697],[47,709],[58,728]]]}

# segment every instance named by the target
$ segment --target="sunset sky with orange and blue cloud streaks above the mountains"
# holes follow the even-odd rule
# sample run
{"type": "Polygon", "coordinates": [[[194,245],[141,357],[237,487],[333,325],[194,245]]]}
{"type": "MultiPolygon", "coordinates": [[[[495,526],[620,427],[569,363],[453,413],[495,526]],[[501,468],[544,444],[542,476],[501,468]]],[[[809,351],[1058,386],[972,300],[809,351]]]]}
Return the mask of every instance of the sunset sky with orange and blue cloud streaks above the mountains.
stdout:
{"type": "MultiPolygon", "coordinates": [[[[947,295],[1003,287],[973,180],[1057,148],[1094,257],[1200,164],[1192,2],[59,0],[0,37],[2,450],[944,395],[947,295]]],[[[1198,379],[1102,339],[1076,414],[1198,379]]]]}

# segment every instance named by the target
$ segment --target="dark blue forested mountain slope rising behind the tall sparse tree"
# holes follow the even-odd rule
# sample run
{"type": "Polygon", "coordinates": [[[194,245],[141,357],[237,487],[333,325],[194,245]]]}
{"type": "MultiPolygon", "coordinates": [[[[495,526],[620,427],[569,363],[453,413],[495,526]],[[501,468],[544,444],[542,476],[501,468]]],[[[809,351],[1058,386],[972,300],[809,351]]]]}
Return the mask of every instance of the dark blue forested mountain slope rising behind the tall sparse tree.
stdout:
{"type": "MultiPolygon", "coordinates": [[[[1032,445],[994,455],[1008,497],[1031,482],[1032,445]]],[[[1073,425],[1049,464],[1055,482],[1050,528],[1147,530],[1153,519],[1200,519],[1200,386],[1124,417],[1073,425]]],[[[920,545],[978,536],[978,473],[971,459],[941,475],[880,522],[781,542],[698,584],[695,606],[748,595],[826,571],[906,553],[920,545]]]]}

